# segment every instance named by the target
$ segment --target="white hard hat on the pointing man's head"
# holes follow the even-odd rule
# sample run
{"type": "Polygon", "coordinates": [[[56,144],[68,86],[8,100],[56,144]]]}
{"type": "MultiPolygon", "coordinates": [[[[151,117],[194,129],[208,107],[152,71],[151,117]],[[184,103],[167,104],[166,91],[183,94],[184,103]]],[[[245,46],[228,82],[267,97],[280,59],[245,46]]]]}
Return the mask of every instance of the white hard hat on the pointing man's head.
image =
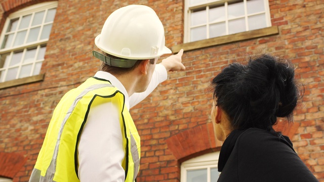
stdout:
{"type": "Polygon", "coordinates": [[[143,5],[129,5],[114,11],[106,20],[97,47],[125,59],[152,59],[172,53],[165,47],[163,24],[154,10],[143,5]]]}

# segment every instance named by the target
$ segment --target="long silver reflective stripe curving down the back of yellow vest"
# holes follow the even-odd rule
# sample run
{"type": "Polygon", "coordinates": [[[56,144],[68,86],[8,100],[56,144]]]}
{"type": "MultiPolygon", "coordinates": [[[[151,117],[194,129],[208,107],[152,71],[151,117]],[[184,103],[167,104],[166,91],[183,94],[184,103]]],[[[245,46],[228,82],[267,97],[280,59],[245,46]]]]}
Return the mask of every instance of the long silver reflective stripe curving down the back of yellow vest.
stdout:
{"type": "Polygon", "coordinates": [[[63,122],[61,124],[60,131],[59,131],[58,136],[57,136],[57,141],[56,141],[56,146],[55,146],[55,149],[54,149],[54,154],[53,154],[53,157],[52,157],[52,161],[50,163],[49,168],[46,171],[46,175],[45,175],[45,178],[46,179],[49,179],[50,181],[52,181],[53,178],[54,178],[54,174],[55,174],[55,170],[56,170],[56,159],[57,159],[57,154],[58,154],[58,151],[59,151],[59,145],[60,145],[60,140],[61,140],[61,135],[62,135],[62,132],[63,132],[63,128],[64,128],[64,125],[65,125],[67,119],[72,114],[72,111],[74,110],[76,104],[86,94],[88,94],[90,91],[95,90],[95,89],[99,89],[99,88],[103,88],[103,87],[108,87],[108,86],[113,87],[111,84],[95,84],[95,85],[89,86],[85,90],[83,90],[82,93],[80,93],[76,97],[76,99],[74,100],[73,104],[71,105],[71,107],[67,111],[67,114],[65,115],[65,118],[64,118],[64,120],[63,120],[63,122]]]}

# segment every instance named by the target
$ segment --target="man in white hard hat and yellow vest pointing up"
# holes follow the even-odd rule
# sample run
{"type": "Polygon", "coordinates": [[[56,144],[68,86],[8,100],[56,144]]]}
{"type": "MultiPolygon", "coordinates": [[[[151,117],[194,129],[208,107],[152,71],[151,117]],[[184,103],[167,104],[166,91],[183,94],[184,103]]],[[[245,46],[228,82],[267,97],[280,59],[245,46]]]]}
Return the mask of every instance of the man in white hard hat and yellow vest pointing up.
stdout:
{"type": "Polygon", "coordinates": [[[135,181],[140,137],[129,109],[167,79],[184,70],[183,50],[165,47],[155,12],[131,5],[113,12],[95,39],[104,63],[94,77],[59,102],[29,181],[135,181]]]}

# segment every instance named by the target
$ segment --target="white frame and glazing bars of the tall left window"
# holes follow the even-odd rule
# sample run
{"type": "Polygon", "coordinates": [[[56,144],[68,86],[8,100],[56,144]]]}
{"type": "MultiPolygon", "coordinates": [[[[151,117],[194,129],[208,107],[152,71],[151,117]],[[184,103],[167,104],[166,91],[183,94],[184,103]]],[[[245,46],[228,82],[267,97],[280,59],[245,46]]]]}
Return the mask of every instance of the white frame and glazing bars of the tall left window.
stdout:
{"type": "MultiPolygon", "coordinates": [[[[29,6],[29,7],[27,7],[27,8],[24,8],[24,9],[22,9],[22,10],[19,10],[19,11],[17,11],[17,12],[15,12],[15,13],[12,13],[12,14],[10,14],[9,16],[8,16],[8,18],[7,18],[7,20],[6,20],[6,22],[5,22],[5,25],[4,25],[4,28],[3,28],[3,30],[2,30],[2,33],[1,33],[1,36],[0,36],[0,43],[3,43],[3,41],[4,41],[4,38],[5,38],[5,36],[6,36],[6,34],[7,34],[7,32],[6,32],[6,30],[8,29],[8,26],[10,25],[10,22],[11,22],[11,20],[12,19],[16,19],[16,18],[19,18],[19,17],[22,17],[22,16],[24,16],[24,15],[28,15],[28,14],[34,14],[34,13],[36,13],[36,12],[40,12],[40,11],[44,11],[44,10],[49,10],[49,9],[53,9],[53,8],[57,8],[57,5],[58,5],[58,2],[57,1],[54,1],[54,2],[45,2],[45,3],[39,3],[39,4],[36,4],[36,5],[32,5],[32,6],[29,6]]],[[[21,19],[20,19],[21,20],[21,19]]],[[[19,21],[20,21],[19,20],[19,21]]],[[[49,23],[52,23],[53,24],[53,22],[49,22],[49,23]]],[[[42,25],[42,28],[43,28],[43,26],[44,26],[45,24],[43,24],[42,25]]],[[[29,29],[28,29],[28,31],[29,31],[29,29]]],[[[41,30],[40,30],[40,32],[41,32],[41,30]]],[[[16,32],[17,33],[17,32],[16,32]]],[[[16,34],[15,33],[15,34],[16,34]]],[[[28,32],[27,32],[27,34],[28,34],[28,32]]],[[[14,35],[15,36],[15,35],[14,35]]],[[[40,36],[40,35],[38,35],[38,36],[40,36]]],[[[27,37],[25,37],[25,38],[27,38],[27,37]]],[[[30,43],[24,43],[24,44],[21,44],[21,45],[17,45],[17,46],[14,46],[14,47],[9,47],[9,48],[5,48],[5,49],[0,49],[0,55],[4,55],[4,54],[7,54],[7,53],[10,53],[10,56],[12,56],[12,54],[14,53],[14,52],[16,52],[16,51],[23,51],[23,52],[25,52],[24,50],[25,49],[28,49],[28,48],[35,48],[35,47],[40,47],[40,46],[44,46],[44,45],[46,45],[47,44],[47,42],[48,42],[48,40],[49,40],[49,38],[45,38],[45,39],[42,39],[42,40],[38,40],[38,41],[33,41],[33,42],[30,42],[30,43]]],[[[38,48],[39,49],[39,48],[38,48]]],[[[37,49],[37,50],[38,50],[37,49]]],[[[37,55],[38,53],[36,53],[36,55],[37,55]]],[[[37,63],[38,62],[43,62],[44,61],[44,59],[42,59],[42,60],[37,60],[37,63]]],[[[32,66],[32,70],[31,70],[31,72],[30,72],[30,75],[29,76],[34,76],[35,74],[33,74],[33,71],[34,71],[34,68],[35,68],[35,63],[36,63],[36,61],[34,61],[33,62],[33,66],[32,66]]],[[[16,80],[19,78],[19,73],[20,73],[20,71],[21,71],[21,67],[22,67],[22,63],[20,63],[20,65],[19,65],[19,68],[18,68],[18,73],[17,73],[17,75],[16,75],[16,80]]],[[[7,67],[7,68],[0,68],[0,70],[1,71],[4,71],[5,70],[5,75],[6,76],[8,76],[7,75],[7,72],[8,72],[8,69],[9,69],[9,67],[7,67]]],[[[5,77],[6,77],[5,76],[5,77]]],[[[4,78],[5,78],[4,77],[4,78]]],[[[15,79],[14,79],[15,80],[15,79]]],[[[3,80],[0,80],[0,83],[2,83],[2,82],[4,82],[3,80]]]]}

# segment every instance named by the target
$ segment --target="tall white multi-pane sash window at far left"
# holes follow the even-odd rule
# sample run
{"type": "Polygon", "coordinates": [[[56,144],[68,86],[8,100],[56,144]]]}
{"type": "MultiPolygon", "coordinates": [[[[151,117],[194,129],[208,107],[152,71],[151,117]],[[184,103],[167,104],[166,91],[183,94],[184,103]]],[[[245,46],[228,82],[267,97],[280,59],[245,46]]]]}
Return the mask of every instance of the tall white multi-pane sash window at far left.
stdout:
{"type": "Polygon", "coordinates": [[[7,18],[0,38],[0,82],[39,74],[56,7],[57,2],[41,3],[7,18]]]}

